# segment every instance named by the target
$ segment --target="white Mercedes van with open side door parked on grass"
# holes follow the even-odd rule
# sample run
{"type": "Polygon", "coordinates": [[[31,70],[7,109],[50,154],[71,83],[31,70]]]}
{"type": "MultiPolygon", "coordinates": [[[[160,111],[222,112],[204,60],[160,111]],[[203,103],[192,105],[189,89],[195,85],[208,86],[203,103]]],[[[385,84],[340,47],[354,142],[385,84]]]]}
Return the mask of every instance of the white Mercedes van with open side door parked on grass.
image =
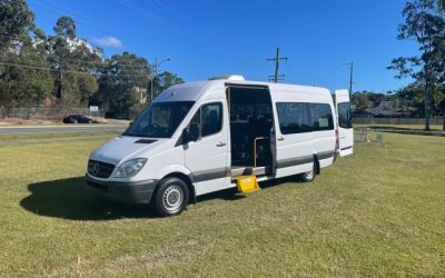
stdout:
{"type": "Polygon", "coordinates": [[[171,216],[245,177],[312,181],[337,155],[353,153],[348,92],[335,95],[337,109],[327,89],[240,76],[174,86],[91,152],[87,188],[171,216]]]}

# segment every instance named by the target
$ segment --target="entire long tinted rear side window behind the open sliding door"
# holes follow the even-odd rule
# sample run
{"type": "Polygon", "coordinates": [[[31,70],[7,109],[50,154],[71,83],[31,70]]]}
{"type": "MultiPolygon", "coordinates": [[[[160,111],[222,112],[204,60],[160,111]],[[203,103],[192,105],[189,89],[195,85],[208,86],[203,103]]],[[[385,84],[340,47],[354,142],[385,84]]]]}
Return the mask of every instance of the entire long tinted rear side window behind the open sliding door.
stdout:
{"type": "Polygon", "coordinates": [[[333,130],[333,111],[328,103],[277,102],[279,130],[283,135],[333,130]]]}

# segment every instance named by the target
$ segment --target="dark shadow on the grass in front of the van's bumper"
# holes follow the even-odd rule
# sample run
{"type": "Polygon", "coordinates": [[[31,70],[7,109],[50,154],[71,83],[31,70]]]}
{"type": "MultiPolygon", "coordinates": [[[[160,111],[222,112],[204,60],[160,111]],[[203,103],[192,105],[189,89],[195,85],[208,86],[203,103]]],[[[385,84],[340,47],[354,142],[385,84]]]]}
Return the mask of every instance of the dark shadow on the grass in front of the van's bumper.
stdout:
{"type": "Polygon", "coordinates": [[[70,220],[115,220],[151,218],[149,206],[130,206],[91,196],[83,177],[31,183],[30,196],[20,201],[26,210],[47,217],[70,220]]]}

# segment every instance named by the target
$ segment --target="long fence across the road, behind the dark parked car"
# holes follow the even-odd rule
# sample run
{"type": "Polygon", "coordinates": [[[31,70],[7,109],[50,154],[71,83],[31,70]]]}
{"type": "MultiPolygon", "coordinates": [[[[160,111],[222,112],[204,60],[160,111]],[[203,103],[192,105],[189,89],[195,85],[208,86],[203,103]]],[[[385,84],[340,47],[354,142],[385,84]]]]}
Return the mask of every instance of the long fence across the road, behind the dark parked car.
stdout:
{"type": "Polygon", "coordinates": [[[60,120],[68,115],[80,113],[92,117],[103,117],[105,111],[90,113],[88,108],[10,108],[0,111],[1,118],[9,119],[37,119],[37,120],[60,120]]]}

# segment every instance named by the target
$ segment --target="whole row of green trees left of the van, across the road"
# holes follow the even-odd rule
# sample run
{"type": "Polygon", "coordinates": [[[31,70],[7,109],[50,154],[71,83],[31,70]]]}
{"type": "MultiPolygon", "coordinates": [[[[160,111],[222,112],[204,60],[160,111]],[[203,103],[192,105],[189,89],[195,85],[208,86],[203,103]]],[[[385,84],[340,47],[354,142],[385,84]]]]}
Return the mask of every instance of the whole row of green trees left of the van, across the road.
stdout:
{"type": "Polygon", "coordinates": [[[53,34],[36,27],[26,0],[0,0],[0,108],[99,106],[113,117],[131,117],[184,80],[164,71],[154,77],[146,58],[123,52],[103,57],[61,17],[53,34]],[[151,85],[152,82],[152,85],[151,85]]]}

